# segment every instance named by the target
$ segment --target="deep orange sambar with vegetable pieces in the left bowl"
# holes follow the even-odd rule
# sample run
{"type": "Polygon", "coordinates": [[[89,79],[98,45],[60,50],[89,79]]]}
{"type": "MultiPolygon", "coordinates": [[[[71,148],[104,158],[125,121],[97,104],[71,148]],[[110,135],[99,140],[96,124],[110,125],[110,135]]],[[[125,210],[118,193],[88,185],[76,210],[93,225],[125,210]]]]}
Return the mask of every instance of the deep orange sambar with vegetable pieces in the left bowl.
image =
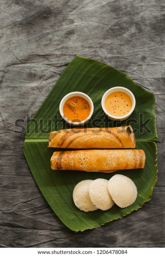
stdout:
{"type": "Polygon", "coordinates": [[[63,114],[73,122],[80,122],[90,115],[90,104],[81,96],[72,96],[63,105],[63,114]]]}

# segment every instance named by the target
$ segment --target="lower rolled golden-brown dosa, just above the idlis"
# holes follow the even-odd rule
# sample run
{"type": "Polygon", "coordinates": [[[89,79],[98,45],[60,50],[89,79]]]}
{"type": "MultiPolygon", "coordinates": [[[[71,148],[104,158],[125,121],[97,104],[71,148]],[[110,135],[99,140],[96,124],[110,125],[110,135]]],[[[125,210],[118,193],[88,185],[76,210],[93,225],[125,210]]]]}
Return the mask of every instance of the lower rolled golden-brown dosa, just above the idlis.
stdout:
{"type": "Polygon", "coordinates": [[[100,171],[111,173],[123,169],[144,168],[141,149],[89,149],[54,152],[52,170],[100,171]]]}

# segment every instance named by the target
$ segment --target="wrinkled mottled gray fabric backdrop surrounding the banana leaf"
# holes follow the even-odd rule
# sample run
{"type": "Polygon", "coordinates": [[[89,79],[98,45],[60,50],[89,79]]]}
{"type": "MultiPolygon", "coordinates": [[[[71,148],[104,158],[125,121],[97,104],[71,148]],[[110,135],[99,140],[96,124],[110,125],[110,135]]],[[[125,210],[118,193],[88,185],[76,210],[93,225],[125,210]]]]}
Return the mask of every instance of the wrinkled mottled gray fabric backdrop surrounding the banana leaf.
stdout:
{"type": "Polygon", "coordinates": [[[165,247],[164,0],[0,0],[0,247],[165,247]],[[127,73],[156,96],[158,181],[124,218],[72,232],[28,168],[16,119],[35,114],[81,55],[127,73]]]}

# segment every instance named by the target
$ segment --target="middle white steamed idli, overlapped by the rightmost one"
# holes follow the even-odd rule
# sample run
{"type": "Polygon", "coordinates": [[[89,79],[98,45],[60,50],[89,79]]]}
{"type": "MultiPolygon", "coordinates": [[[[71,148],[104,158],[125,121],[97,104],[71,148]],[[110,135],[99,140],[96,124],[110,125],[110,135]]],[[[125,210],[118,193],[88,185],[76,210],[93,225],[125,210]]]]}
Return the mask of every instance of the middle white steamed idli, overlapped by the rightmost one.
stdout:
{"type": "Polygon", "coordinates": [[[108,180],[99,178],[92,181],[89,186],[89,194],[92,203],[103,211],[110,209],[114,205],[108,191],[108,180]]]}

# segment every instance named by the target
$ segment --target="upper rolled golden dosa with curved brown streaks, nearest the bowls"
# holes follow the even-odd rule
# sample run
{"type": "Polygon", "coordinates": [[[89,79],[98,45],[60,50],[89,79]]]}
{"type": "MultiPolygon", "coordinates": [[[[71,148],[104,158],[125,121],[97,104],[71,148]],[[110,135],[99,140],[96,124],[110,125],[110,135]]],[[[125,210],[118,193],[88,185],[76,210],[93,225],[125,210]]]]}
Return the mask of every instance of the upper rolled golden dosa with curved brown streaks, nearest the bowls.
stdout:
{"type": "Polygon", "coordinates": [[[72,128],[54,131],[48,147],[59,148],[135,148],[131,126],[113,128],[72,128]]]}

